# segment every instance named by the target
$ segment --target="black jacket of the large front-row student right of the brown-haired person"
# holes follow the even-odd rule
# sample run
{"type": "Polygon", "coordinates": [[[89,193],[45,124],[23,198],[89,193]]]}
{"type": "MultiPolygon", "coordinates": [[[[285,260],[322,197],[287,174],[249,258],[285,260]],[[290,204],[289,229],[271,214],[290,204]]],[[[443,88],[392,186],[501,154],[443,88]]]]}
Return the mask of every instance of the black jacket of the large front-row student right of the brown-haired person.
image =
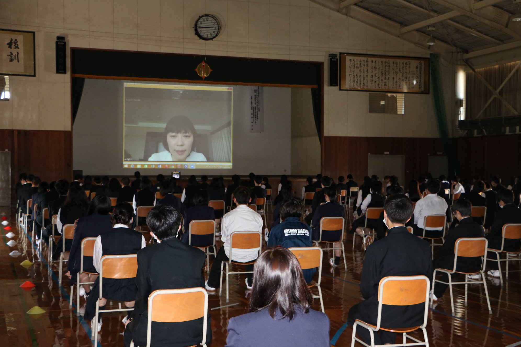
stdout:
{"type": "MultiPolygon", "coordinates": [[[[378,312],[378,284],[387,276],[430,277],[432,260],[430,245],[425,240],[410,234],[404,226],[389,229],[388,236],[367,248],[360,291],[366,312],[378,312]]],[[[414,327],[423,324],[423,303],[408,306],[384,306],[381,325],[383,327],[414,327]]]]}

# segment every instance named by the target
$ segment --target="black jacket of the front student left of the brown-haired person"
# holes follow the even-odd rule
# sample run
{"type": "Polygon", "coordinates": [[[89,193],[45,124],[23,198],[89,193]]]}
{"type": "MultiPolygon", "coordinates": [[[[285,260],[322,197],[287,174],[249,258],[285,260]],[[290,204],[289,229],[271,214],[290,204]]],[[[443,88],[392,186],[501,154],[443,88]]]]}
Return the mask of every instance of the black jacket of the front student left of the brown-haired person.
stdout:
{"type": "MultiPolygon", "coordinates": [[[[127,326],[135,345],[146,345],[148,319],[148,295],[158,289],[205,287],[201,269],[205,254],[200,249],[185,245],[177,238],[163,240],[138,252],[138,274],[135,278],[138,294],[133,319],[127,326]],[[182,266],[177,265],[182,264],[182,266]]],[[[180,323],[152,323],[152,345],[185,347],[201,343],[203,318],[180,323]]],[[[212,340],[212,328],[208,315],[206,342],[212,340]]]]}

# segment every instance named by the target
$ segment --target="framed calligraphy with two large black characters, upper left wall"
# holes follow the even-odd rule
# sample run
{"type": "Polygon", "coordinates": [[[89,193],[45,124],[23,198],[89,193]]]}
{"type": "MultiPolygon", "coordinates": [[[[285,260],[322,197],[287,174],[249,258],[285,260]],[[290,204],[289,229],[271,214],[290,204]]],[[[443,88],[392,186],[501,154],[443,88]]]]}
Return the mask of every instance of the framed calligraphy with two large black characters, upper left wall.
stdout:
{"type": "Polygon", "coordinates": [[[0,75],[35,76],[34,31],[0,29],[0,75]]]}

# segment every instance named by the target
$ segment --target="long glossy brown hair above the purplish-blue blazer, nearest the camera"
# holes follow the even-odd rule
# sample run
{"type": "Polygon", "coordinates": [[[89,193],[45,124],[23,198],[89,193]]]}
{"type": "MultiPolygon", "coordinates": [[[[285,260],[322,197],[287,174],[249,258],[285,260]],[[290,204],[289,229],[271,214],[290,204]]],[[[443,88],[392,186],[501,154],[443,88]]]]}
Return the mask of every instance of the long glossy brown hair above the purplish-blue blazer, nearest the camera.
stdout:
{"type": "Polygon", "coordinates": [[[282,318],[293,319],[299,306],[309,312],[313,294],[307,287],[296,256],[283,247],[266,250],[255,263],[249,312],[268,309],[275,319],[277,310],[282,318]]]}

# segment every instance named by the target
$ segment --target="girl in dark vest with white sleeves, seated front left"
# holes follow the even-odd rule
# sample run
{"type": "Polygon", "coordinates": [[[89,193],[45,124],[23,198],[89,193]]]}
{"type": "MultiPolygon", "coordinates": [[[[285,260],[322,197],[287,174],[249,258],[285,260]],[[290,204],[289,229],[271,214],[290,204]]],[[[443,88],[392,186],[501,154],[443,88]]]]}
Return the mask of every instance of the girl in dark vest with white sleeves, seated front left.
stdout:
{"type": "MultiPolygon", "coordinates": [[[[111,218],[113,224],[112,229],[100,234],[94,243],[92,263],[97,273],[100,273],[100,260],[103,255],[136,254],[140,249],[146,246],[143,235],[130,228],[133,219],[132,206],[128,202],[122,202],[116,205],[111,218]]],[[[98,302],[98,306],[100,310],[105,310],[107,299],[110,299],[125,301],[125,306],[130,309],[134,307],[137,292],[135,277],[103,278],[102,299],[98,302]]],[[[96,300],[100,297],[100,277],[96,278],[91,293],[85,305],[84,318],[88,320],[94,318],[96,315],[96,300]]],[[[102,313],[98,314],[98,331],[101,330],[101,316],[102,313]]],[[[126,323],[125,319],[123,319],[123,323],[126,323]]],[[[91,323],[91,330],[93,329],[94,322],[91,323]]]]}

